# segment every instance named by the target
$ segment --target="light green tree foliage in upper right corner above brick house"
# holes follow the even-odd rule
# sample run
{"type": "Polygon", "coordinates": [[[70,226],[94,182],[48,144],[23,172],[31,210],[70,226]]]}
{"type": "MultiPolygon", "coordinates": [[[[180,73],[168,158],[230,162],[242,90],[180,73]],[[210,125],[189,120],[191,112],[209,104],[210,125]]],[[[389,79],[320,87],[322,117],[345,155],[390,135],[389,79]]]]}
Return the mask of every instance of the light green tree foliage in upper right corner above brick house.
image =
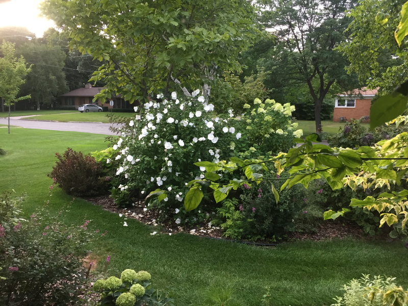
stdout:
{"type": "Polygon", "coordinates": [[[349,12],[351,39],[341,44],[348,57],[349,72],[356,72],[368,87],[390,93],[408,78],[408,43],[394,37],[405,0],[362,0],[349,12]],[[378,18],[376,16],[385,18],[378,18]]]}

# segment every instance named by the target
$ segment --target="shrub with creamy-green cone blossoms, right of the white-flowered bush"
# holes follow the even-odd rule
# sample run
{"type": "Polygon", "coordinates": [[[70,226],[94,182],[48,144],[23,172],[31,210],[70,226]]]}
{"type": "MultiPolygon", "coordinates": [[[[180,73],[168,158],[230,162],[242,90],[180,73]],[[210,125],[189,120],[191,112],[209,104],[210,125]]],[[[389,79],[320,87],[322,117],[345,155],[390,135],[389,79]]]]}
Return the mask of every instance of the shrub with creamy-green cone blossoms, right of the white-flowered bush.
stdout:
{"type": "Polygon", "coordinates": [[[250,148],[241,154],[242,158],[286,152],[293,147],[293,139],[303,135],[303,131],[297,129],[297,123],[291,122],[295,107],[289,103],[282,105],[270,99],[262,103],[257,98],[253,101],[253,108],[245,104],[244,109],[246,113],[237,126],[247,135],[250,148]]]}

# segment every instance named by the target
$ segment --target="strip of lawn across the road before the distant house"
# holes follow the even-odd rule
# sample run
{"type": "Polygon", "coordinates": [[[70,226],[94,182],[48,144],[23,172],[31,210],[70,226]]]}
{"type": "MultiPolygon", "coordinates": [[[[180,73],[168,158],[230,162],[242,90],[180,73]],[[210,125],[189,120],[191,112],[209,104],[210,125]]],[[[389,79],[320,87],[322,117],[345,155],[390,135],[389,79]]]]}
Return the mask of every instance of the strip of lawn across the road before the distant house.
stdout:
{"type": "MultiPolygon", "coordinates": [[[[116,116],[131,118],[135,116],[135,113],[113,113],[116,116]]],[[[69,121],[80,121],[80,122],[102,122],[109,123],[108,117],[106,116],[107,112],[89,112],[89,113],[70,113],[70,114],[49,114],[30,117],[28,119],[36,120],[55,120],[60,122],[69,122],[69,121]]]]}

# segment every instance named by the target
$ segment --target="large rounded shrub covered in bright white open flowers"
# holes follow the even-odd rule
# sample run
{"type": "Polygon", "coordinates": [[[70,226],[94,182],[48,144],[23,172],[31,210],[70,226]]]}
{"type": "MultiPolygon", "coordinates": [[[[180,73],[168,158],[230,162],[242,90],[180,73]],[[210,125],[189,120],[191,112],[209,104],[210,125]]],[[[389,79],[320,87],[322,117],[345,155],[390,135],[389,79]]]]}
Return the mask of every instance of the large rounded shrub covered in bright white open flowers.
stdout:
{"type": "MultiPolygon", "coordinates": [[[[160,205],[172,211],[182,209],[188,182],[204,177],[205,168],[194,166],[200,160],[218,162],[229,157],[232,144],[242,134],[224,117],[213,118],[214,106],[203,105],[204,97],[150,101],[135,107],[137,115],[122,127],[121,136],[113,146],[120,161],[116,175],[127,179],[120,193],[140,190],[144,195],[156,189],[165,190],[159,196],[160,205]],[[141,109],[140,109],[141,108],[141,109]]],[[[158,99],[163,95],[158,95],[158,99]]],[[[117,190],[119,191],[119,190],[117,190]]]]}

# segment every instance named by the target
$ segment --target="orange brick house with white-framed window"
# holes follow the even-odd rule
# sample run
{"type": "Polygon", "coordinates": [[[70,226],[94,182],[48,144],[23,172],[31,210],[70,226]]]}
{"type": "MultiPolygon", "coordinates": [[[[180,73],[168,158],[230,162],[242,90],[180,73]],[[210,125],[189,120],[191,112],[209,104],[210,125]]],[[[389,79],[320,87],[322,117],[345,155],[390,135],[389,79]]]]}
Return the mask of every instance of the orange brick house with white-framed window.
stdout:
{"type": "MultiPolygon", "coordinates": [[[[339,94],[336,98],[333,121],[350,121],[350,119],[370,116],[371,99],[376,93],[377,89],[369,90],[363,87],[339,94]]],[[[370,119],[365,122],[370,122],[370,119]]]]}

